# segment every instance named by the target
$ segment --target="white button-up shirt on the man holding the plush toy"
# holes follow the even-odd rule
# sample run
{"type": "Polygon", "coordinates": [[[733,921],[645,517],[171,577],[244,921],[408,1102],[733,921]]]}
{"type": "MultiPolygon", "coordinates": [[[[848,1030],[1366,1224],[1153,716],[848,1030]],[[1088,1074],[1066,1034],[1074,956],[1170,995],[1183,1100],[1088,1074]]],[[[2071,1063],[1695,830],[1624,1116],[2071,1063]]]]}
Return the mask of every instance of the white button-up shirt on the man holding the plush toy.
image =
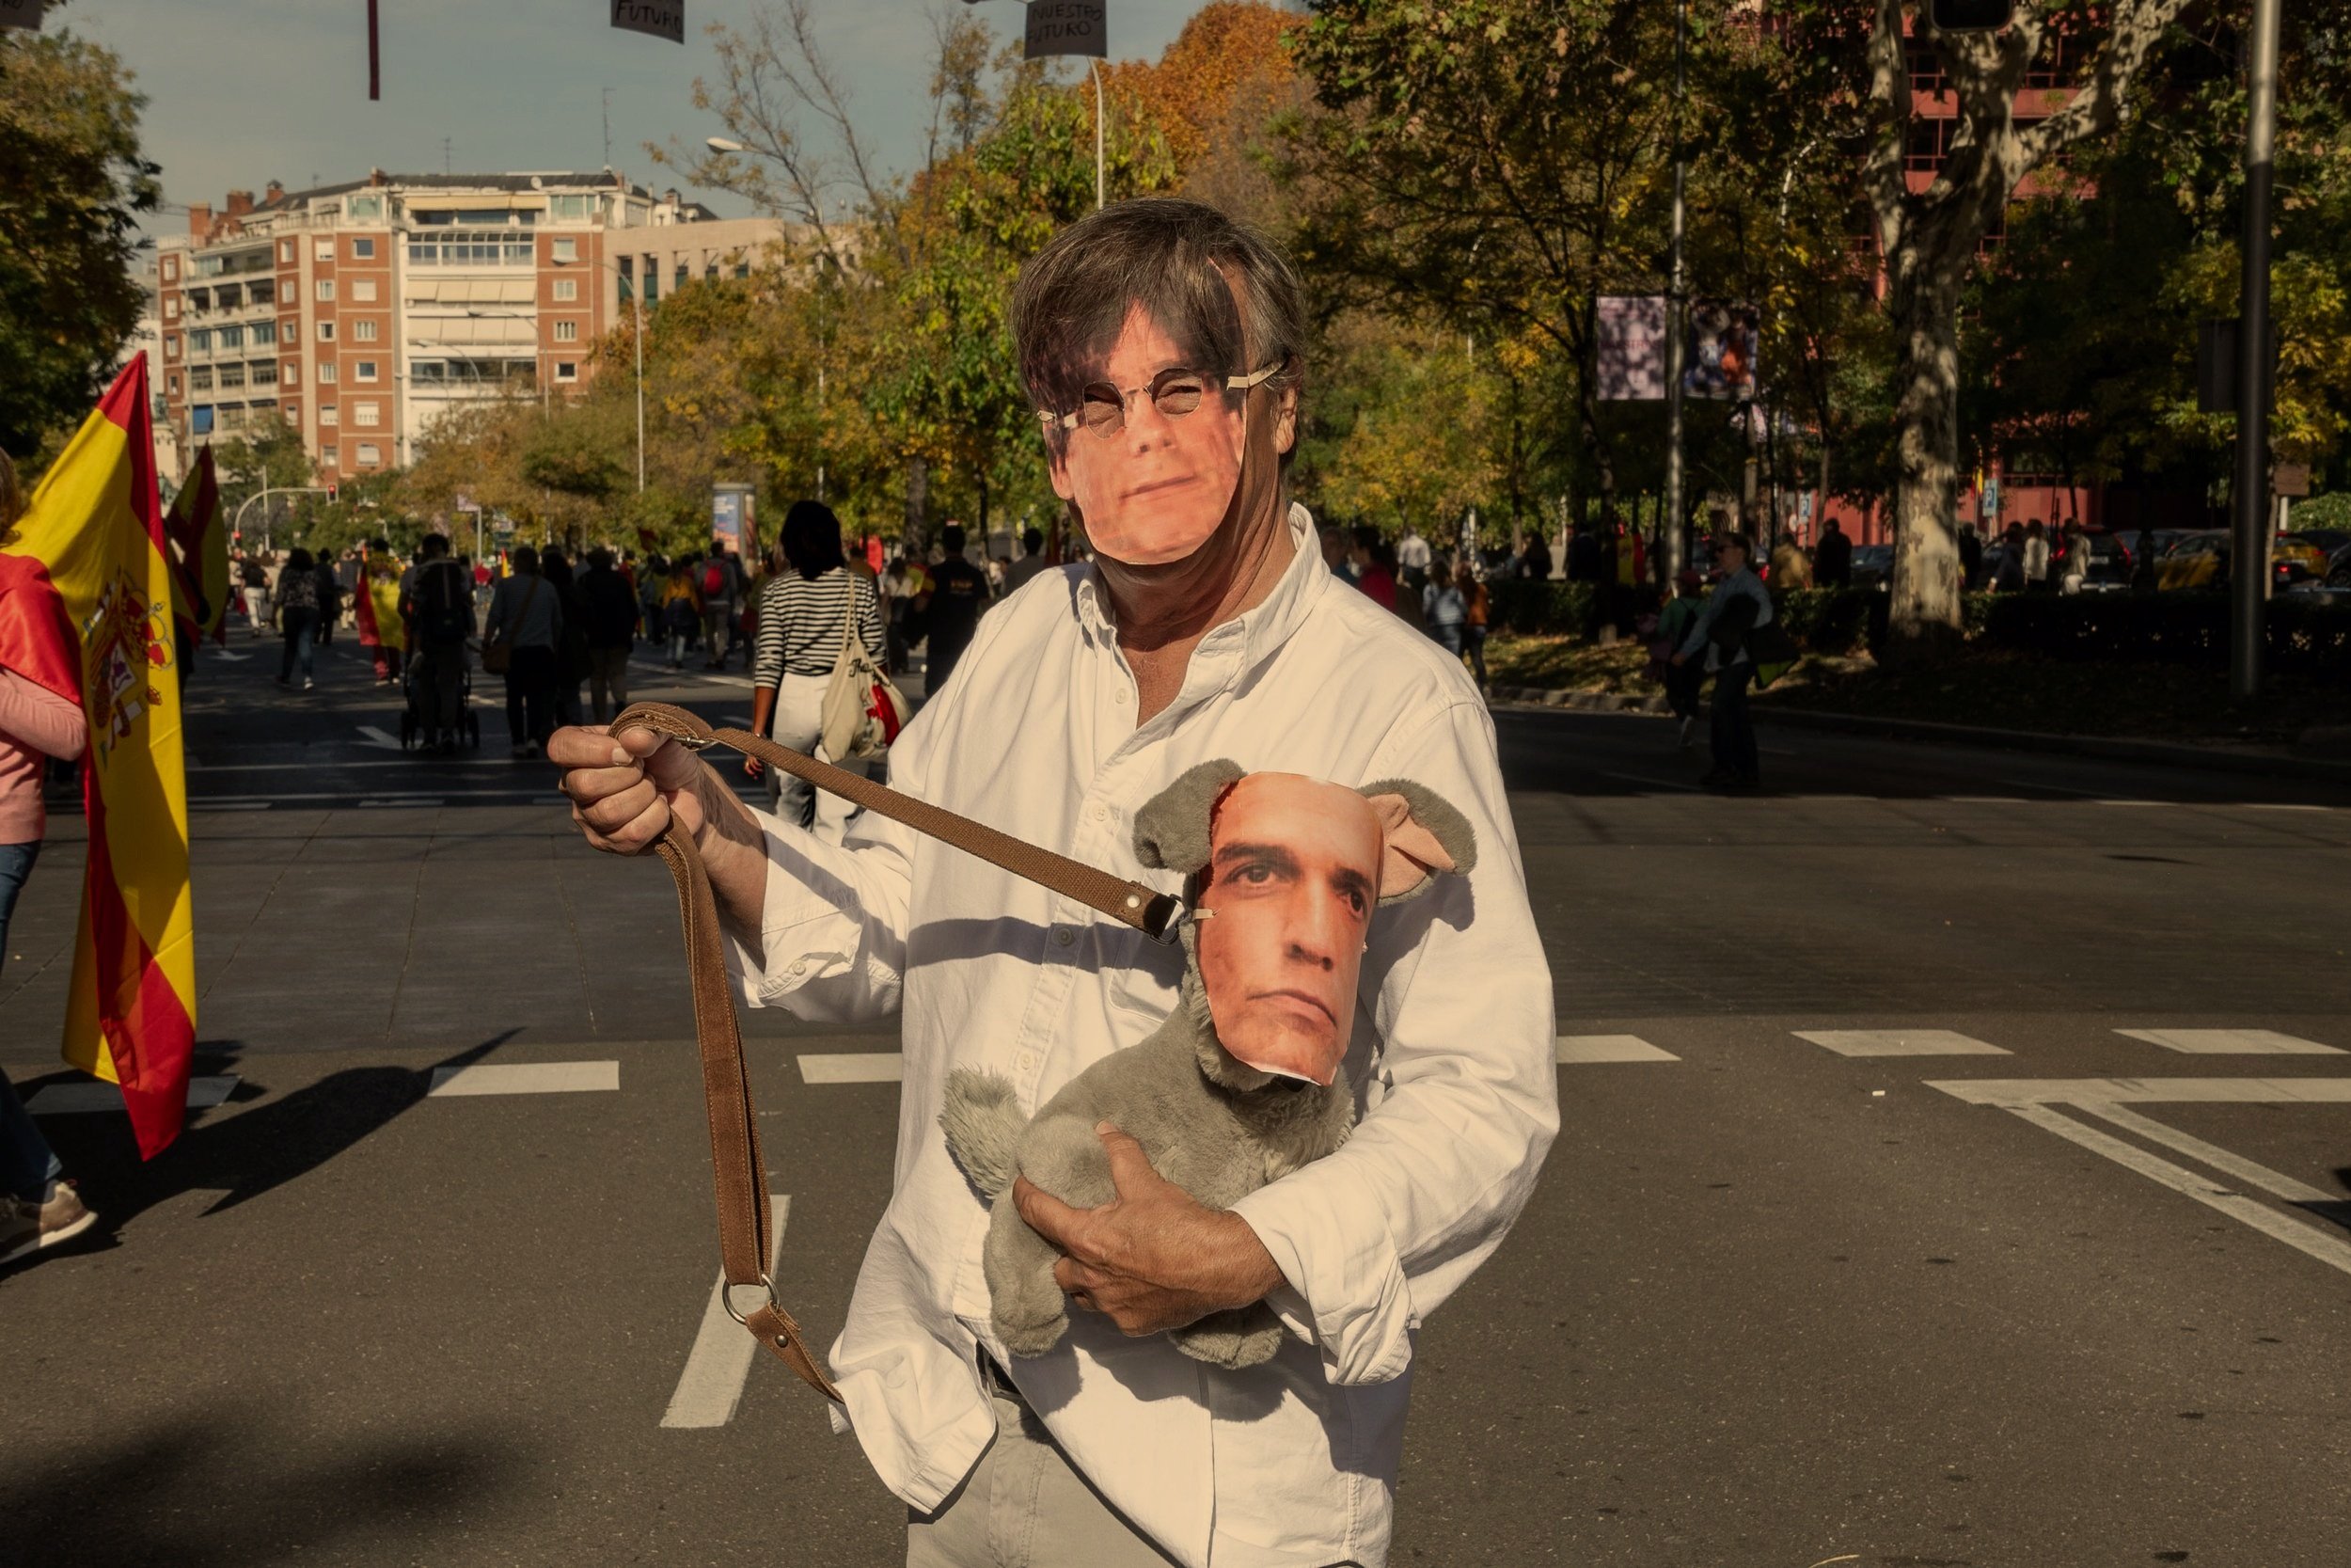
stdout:
{"type": "Polygon", "coordinates": [[[1136,724],[1136,682],[1089,569],[994,607],[955,679],[891,748],[891,783],[992,827],[1178,891],[1133,811],[1192,764],[1364,785],[1411,778],[1476,830],[1467,879],[1380,910],[1335,1154],[1241,1199],[1288,1281],[1284,1349],[1248,1371],[1070,1314],[1046,1356],[994,1342],[987,1208],[947,1157],[952,1067],[1032,1112],[1176,1006],[1183,950],[872,813],[846,846],[766,818],[764,961],[729,943],[752,1006],[809,1020],[903,1011],[889,1211],[832,1378],[882,1481],[933,1509],[994,1436],[976,1347],[1006,1366],[1070,1460],[1187,1568],[1387,1559],[1413,1328],[1502,1241],[1559,1131],[1552,976],[1526,903],[1493,722],[1460,661],[1347,588],[1305,508],[1265,604],[1211,630],[1183,691],[1136,724]]]}

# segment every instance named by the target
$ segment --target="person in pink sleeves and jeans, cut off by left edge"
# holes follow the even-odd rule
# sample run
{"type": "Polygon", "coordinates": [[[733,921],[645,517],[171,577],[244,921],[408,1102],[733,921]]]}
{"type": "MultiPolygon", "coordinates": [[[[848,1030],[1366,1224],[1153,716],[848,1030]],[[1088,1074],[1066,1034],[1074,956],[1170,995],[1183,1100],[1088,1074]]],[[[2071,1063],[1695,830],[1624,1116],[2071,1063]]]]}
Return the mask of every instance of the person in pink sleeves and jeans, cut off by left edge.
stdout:
{"type": "MultiPolygon", "coordinates": [[[[7,555],[21,510],[16,470],[0,454],[0,959],[47,827],[47,759],[80,757],[89,743],[66,604],[38,559],[7,555]]],[[[71,1241],[96,1220],[0,1074],[0,1265],[71,1241]]]]}

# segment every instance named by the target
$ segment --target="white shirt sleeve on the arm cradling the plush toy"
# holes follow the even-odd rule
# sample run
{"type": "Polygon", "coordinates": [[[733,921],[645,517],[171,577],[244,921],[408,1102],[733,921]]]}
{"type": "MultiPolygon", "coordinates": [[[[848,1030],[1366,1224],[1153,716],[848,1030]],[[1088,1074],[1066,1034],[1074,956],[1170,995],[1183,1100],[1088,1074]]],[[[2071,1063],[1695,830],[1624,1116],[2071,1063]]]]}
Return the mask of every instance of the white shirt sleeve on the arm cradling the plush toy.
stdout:
{"type": "Polygon", "coordinates": [[[1375,776],[1458,806],[1479,865],[1373,924],[1364,971],[1385,976],[1373,1018],[1387,1044],[1354,1138],[1234,1204],[1288,1281],[1270,1305],[1312,1326],[1338,1385],[1404,1373],[1411,1331],[1500,1246],[1559,1133],[1552,971],[1493,719],[1455,703],[1387,748],[1375,776]]]}

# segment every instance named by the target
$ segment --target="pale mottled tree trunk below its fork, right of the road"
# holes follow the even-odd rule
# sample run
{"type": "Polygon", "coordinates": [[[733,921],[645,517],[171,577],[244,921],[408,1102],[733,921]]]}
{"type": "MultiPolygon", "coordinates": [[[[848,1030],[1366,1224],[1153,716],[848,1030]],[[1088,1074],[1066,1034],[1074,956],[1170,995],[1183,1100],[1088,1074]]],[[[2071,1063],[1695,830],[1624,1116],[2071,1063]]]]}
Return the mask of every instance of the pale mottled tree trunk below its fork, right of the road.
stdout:
{"type": "MultiPolygon", "coordinates": [[[[1958,651],[1958,270],[1916,256],[1902,273],[1895,400],[1895,571],[1886,661],[1937,663],[1958,651]]],[[[1900,275],[1900,273],[1897,273],[1900,275]]]]}

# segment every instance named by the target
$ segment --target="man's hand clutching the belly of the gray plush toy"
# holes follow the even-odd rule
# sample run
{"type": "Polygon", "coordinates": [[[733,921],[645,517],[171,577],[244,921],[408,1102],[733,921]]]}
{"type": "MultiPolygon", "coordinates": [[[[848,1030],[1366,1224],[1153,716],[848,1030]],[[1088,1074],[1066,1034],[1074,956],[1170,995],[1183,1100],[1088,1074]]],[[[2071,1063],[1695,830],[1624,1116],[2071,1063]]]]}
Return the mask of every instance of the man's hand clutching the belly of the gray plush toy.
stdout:
{"type": "Polygon", "coordinates": [[[1265,1300],[1281,1284],[1248,1220],[1201,1206],[1107,1121],[1093,1131],[1119,1197],[1070,1208],[1027,1178],[1013,1182],[1020,1218],[1063,1253],[1053,1281],[1072,1302],[1105,1314],[1119,1333],[1145,1335],[1265,1300]]]}

